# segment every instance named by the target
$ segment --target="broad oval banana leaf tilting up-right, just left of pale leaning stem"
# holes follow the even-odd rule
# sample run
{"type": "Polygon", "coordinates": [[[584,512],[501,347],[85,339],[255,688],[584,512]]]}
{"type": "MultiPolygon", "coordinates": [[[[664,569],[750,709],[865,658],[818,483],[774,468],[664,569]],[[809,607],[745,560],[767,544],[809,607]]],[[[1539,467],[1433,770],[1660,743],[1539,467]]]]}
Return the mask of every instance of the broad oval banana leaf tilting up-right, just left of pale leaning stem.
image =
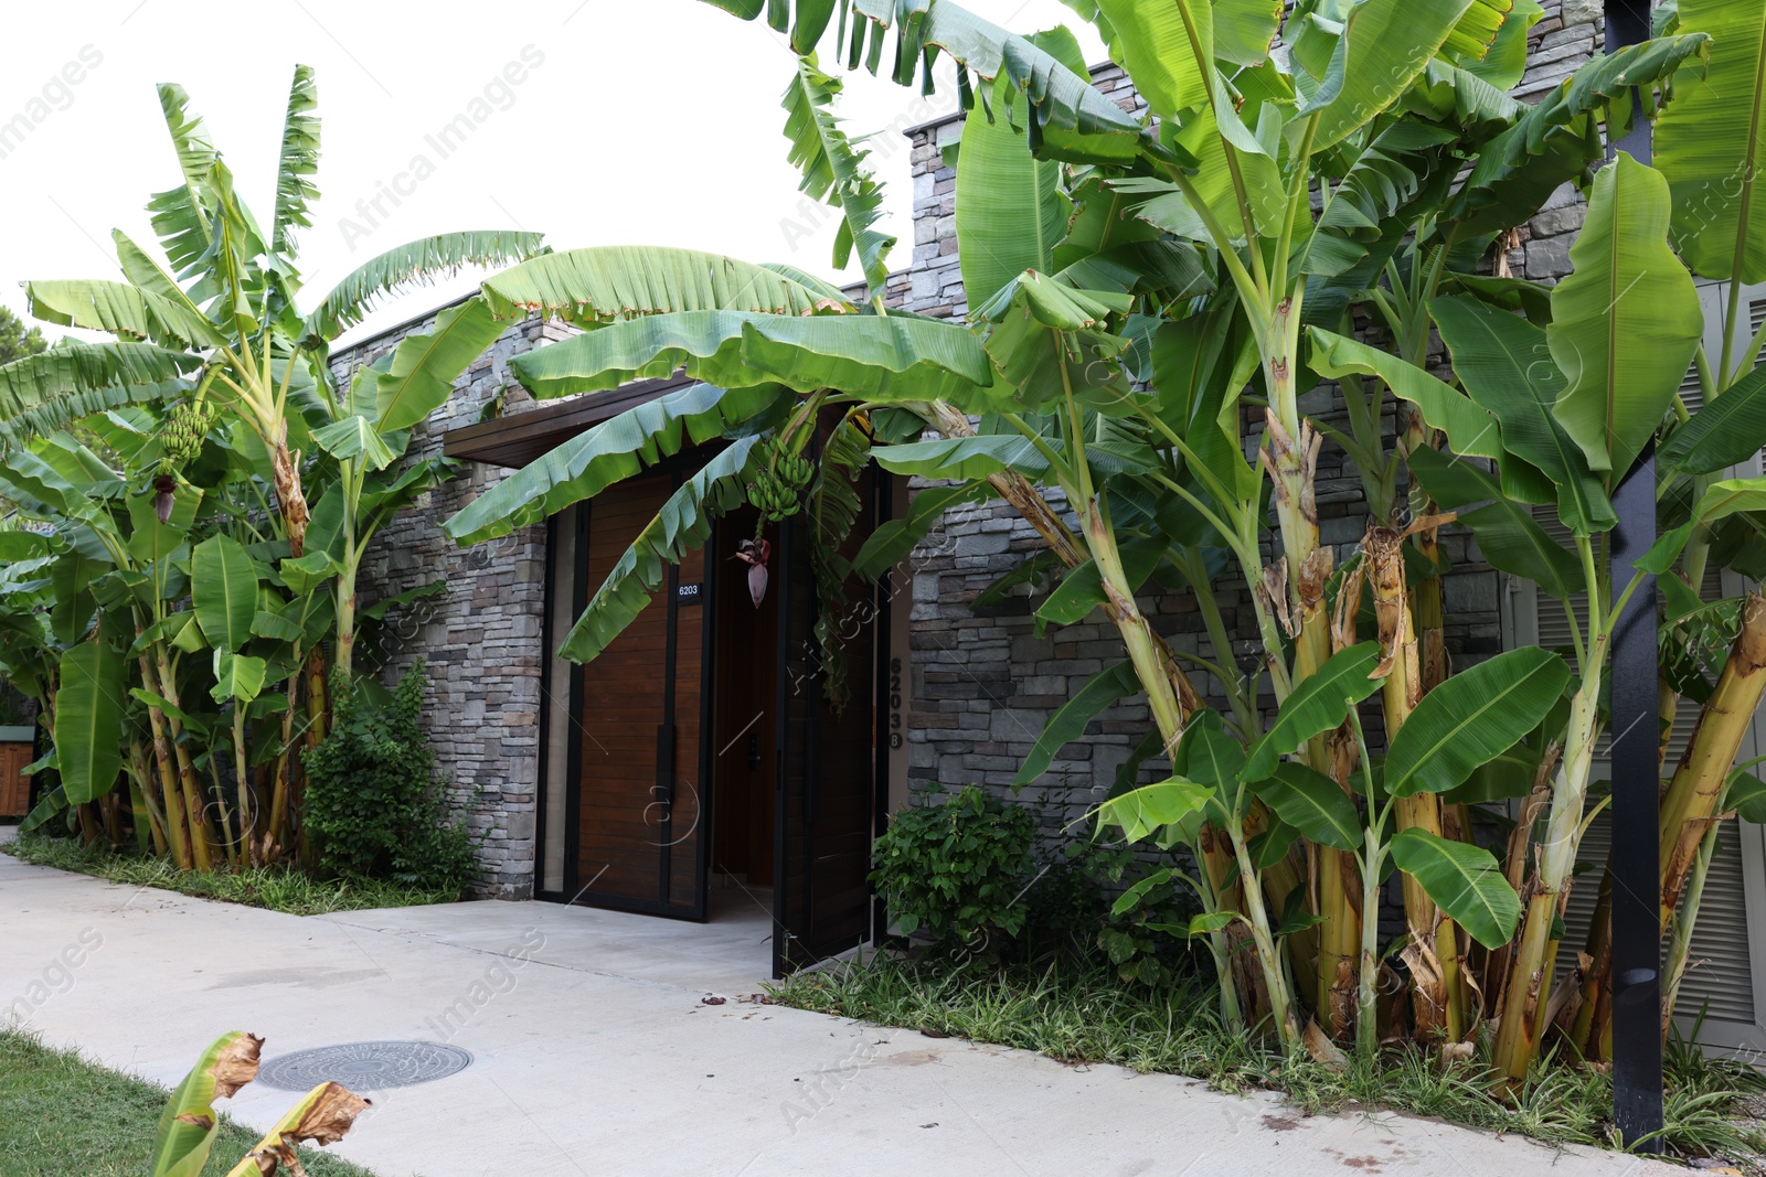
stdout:
{"type": "Polygon", "coordinates": [[[1570,681],[1563,658],[1510,649],[1430,690],[1386,752],[1386,791],[1446,792],[1540,725],[1570,681]]]}

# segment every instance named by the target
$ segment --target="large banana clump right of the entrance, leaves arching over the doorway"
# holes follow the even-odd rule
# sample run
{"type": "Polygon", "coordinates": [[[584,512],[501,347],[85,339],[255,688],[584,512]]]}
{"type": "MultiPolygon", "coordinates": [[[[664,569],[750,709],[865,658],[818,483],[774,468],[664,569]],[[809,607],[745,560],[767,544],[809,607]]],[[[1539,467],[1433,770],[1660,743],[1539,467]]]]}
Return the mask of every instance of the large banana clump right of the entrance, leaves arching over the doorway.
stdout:
{"type": "MultiPolygon", "coordinates": [[[[535,390],[590,392],[683,364],[733,392],[682,394],[646,406],[645,422],[609,422],[606,438],[588,434],[569,461],[547,459],[510,480],[450,531],[470,540],[593,494],[673,452],[694,424],[722,420],[731,438],[766,431],[770,452],[795,454],[816,452],[812,422],[828,408],[848,425],[885,409],[911,413],[943,438],[918,441],[908,431],[848,445],[853,438],[837,432],[821,450],[818,491],[837,491],[869,459],[954,480],[957,496],[1000,494],[1047,540],[1047,563],[1068,568],[1038,618],[1065,623],[1102,607],[1118,626],[1127,662],[1106,667],[1051,720],[1026,771],[1045,768],[1116,699],[1146,693],[1157,725],[1150,746],[1173,776],[1113,799],[1102,817],[1189,847],[1187,877],[1204,907],[1190,933],[1215,953],[1224,1015],[1268,1016],[1291,1048],[1307,1016],[1363,1050],[1402,1029],[1376,1020],[1388,965],[1374,921],[1360,916],[1395,861],[1409,919],[1400,953],[1408,1027],[1459,1039],[1501,1015],[1496,1062],[1524,1075],[1545,1029],[1540,995],[1552,988],[1552,905],[1588,817],[1588,766],[1605,722],[1604,651],[1630,591],[1630,570],[1595,559],[1614,522],[1611,489],[1642,445],[1664,439],[1681,485],[1665,487],[1664,501],[1683,505],[1676,535],[1697,563],[1713,552],[1717,529],[1748,526],[1734,521],[1750,521],[1755,489],[1706,492],[1704,484],[1687,498],[1685,471],[1715,469],[1717,450],[1745,454],[1766,441],[1754,385],[1736,379],[1747,367],[1736,364],[1740,346],[1715,365],[1717,392],[1731,395],[1724,390],[1734,385],[1736,399],[1708,397],[1715,404],[1672,432],[1667,409],[1699,335],[1690,281],[1667,254],[1669,191],[1681,199],[1679,178],[1664,164],[1664,185],[1625,159],[1595,176],[1600,125],[1626,124],[1634,86],[1646,90],[1648,115],[1685,118],[1676,102],[1694,83],[1683,67],[1702,69],[1713,53],[1706,34],[1747,5],[1687,4],[1678,28],[1596,58],[1528,108],[1503,95],[1526,67],[1526,28],[1540,18],[1528,0],[1307,0],[1286,14],[1264,0],[1074,0],[1148,101],[1157,116],[1148,125],[1088,83],[1070,37],[1019,37],[950,0],[712,2],[747,19],[765,11],[791,34],[802,55],[788,101],[791,157],[805,169],[805,191],[844,214],[842,244],[860,245],[872,295],[878,261],[862,247],[874,240],[871,180],[851,143],[825,132],[832,124],[818,113],[834,83],[809,55],[844,56],[901,83],[940,53],[955,60],[971,111],[955,214],[971,321],[920,323],[872,298],[782,330],[777,309],[721,302],[719,289],[701,288],[708,298],[691,305],[650,300],[655,318],[639,323],[608,314],[604,293],[549,272],[544,300],[509,302],[588,307],[593,314],[579,318],[606,326],[517,364],[535,390]],[[1282,58],[1268,51],[1277,34],[1289,46],[1282,58]],[[1547,293],[1480,274],[1498,233],[1528,221],[1565,182],[1593,199],[1577,275],[1547,293]],[[1625,318],[1644,272],[1653,284],[1635,309],[1648,311],[1648,325],[1625,318]],[[1600,295],[1635,332],[1598,334],[1600,295]],[[1374,319],[1372,339],[1351,330],[1351,307],[1374,319]],[[915,326],[897,332],[887,321],[915,326]],[[1452,379],[1425,371],[1436,328],[1453,349],[1452,379]],[[869,356],[885,337],[895,349],[879,379],[869,356]],[[962,358],[977,346],[984,371],[962,358]],[[1346,427],[1300,408],[1321,376],[1340,381],[1346,427]],[[766,392],[738,413],[705,415],[701,402],[735,404],[736,392],[761,385],[796,392],[800,408],[766,392]],[[1395,438],[1381,425],[1388,397],[1404,402],[1395,438]],[[1722,425],[1706,424],[1713,411],[1722,425]],[[1263,424],[1254,462],[1247,413],[1263,424]],[[1718,441],[1729,425],[1747,438],[1718,441]],[[1402,531],[1372,526],[1344,568],[1319,536],[1314,484],[1326,436],[1355,459],[1374,521],[1406,506],[1413,519],[1402,531]],[[1406,482],[1409,503],[1400,503],[1406,482]],[[1551,508],[1570,547],[1535,519],[1551,508]],[[1266,512],[1282,552],[1270,566],[1266,512]],[[1554,653],[1515,651],[1452,676],[1438,533],[1455,514],[1498,568],[1552,595],[1602,602],[1579,628],[1568,699],[1570,674],[1554,653]],[[1236,574],[1256,621],[1256,665],[1231,653],[1222,568],[1236,574]],[[1180,655],[1143,616],[1136,598],[1153,579],[1196,596],[1211,658],[1180,655]],[[1363,602],[1377,621],[1370,635],[1358,633],[1363,602]],[[1259,697],[1257,671],[1268,672],[1273,701],[1259,697]],[[1204,706],[1204,693],[1224,697],[1226,711],[1204,706]],[[1360,711],[1346,704],[1370,693],[1390,755],[1402,757],[1402,789],[1379,783],[1379,746],[1369,746],[1360,711]],[[1466,715],[1489,722],[1473,731],[1466,715]],[[1476,845],[1468,806],[1526,794],[1535,778],[1545,787],[1540,828],[1522,829],[1503,859],[1476,845]],[[1473,942],[1489,951],[1473,953],[1473,942]],[[1254,969],[1234,967],[1241,949],[1254,969]]],[[[1757,39],[1740,42],[1727,69],[1738,81],[1757,78],[1748,74],[1757,39]]],[[[1715,152],[1688,155],[1688,171],[1715,166],[1715,152]]],[[[487,288],[493,300],[507,298],[496,288],[487,288]]],[[[726,450],[721,485],[742,485],[731,466],[752,466],[761,452],[726,450]]],[[[945,494],[851,563],[823,545],[826,609],[844,598],[849,568],[874,574],[906,551],[945,494]]],[[[615,570],[585,618],[592,641],[574,635],[567,653],[602,649],[659,582],[653,561],[676,558],[726,505],[708,494],[671,503],[653,528],[666,542],[646,538],[615,570]]],[[[1732,544],[1724,554],[1745,551],[1732,544]]],[[[1665,547],[1658,558],[1662,570],[1683,559],[1665,547]]],[[[1683,566],[1697,582],[1702,563],[1683,566]]],[[[837,690],[835,676],[828,686],[837,690]]],[[[1711,761],[1727,766],[1732,750],[1711,761]]]]}

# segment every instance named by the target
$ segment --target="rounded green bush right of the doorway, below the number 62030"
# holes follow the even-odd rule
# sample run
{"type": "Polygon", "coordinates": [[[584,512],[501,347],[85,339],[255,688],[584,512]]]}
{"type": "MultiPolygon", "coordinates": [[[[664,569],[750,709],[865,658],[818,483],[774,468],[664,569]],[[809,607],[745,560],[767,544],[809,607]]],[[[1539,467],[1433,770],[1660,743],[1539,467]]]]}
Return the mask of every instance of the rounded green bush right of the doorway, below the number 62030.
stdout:
{"type": "Polygon", "coordinates": [[[922,791],[876,843],[871,881],[902,932],[941,948],[998,955],[1024,926],[1017,902],[1031,868],[1037,822],[975,785],[922,791]],[[941,799],[940,799],[941,798],[941,799]]]}

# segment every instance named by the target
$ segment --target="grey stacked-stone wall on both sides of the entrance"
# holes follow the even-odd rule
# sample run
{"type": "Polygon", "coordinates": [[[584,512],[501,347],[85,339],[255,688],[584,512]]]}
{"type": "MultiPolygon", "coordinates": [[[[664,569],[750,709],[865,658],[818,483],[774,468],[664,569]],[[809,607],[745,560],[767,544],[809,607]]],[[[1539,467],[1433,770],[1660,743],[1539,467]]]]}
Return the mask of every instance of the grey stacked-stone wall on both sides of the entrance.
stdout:
{"type": "MultiPolygon", "coordinates": [[[[1515,88],[1522,101],[1536,101],[1586,62],[1600,41],[1600,0],[1543,0],[1543,5],[1545,19],[1531,35],[1533,69],[1515,88]]],[[[1120,69],[1097,71],[1095,83],[1125,109],[1144,111],[1120,69]]],[[[955,236],[955,173],[945,168],[940,152],[941,141],[959,131],[961,120],[954,116],[908,132],[913,261],[908,270],[890,275],[888,284],[890,305],[938,318],[968,314],[955,236]]],[[[1531,222],[1519,226],[1508,266],[1521,277],[1547,282],[1568,274],[1570,242],[1581,224],[1581,198],[1565,189],[1531,222]]],[[[371,364],[431,323],[427,316],[339,353],[341,379],[348,381],[357,365],[371,364]]],[[[461,378],[454,399],[419,425],[411,452],[434,454],[442,434],[477,420],[484,404],[505,390],[503,411],[528,408],[526,395],[507,372],[509,358],[565,334],[569,328],[556,323],[512,325],[461,378]]],[[[1436,358],[1439,362],[1439,349],[1436,358]]],[[[1328,388],[1310,394],[1302,408],[1342,424],[1328,388]]],[[[1256,427],[1257,422],[1247,422],[1250,439],[1256,427]]],[[[546,653],[540,646],[544,528],[472,549],[456,547],[440,529],[442,521],[505,475],[500,468],[466,466],[456,482],[431,492],[387,528],[362,572],[362,603],[434,579],[447,581],[445,596],[389,614],[378,665],[381,678],[392,681],[419,656],[429,663],[429,731],[442,769],[454,780],[457,805],[473,829],[486,835],[484,893],[521,898],[532,895],[535,866],[546,653]]],[[[1340,452],[1326,446],[1319,459],[1317,501],[1323,538],[1335,547],[1339,563],[1367,528],[1358,514],[1360,499],[1355,471],[1340,452]]],[[[908,755],[917,783],[1010,785],[1049,715],[1086,678],[1121,658],[1114,626],[1100,616],[1038,635],[1030,616],[1031,596],[1012,596],[991,609],[971,607],[977,593],[1038,544],[1010,510],[982,505],[952,510],[913,554],[908,755]]],[[[1445,547],[1453,565],[1445,581],[1448,649],[1459,662],[1473,662],[1501,648],[1501,579],[1480,561],[1462,531],[1448,531],[1445,547]]],[[[1231,577],[1222,586],[1229,582],[1231,577]]],[[[1229,595],[1222,595],[1220,605],[1233,635],[1234,663],[1254,665],[1261,642],[1250,609],[1229,595]]],[[[1174,649],[1215,656],[1187,593],[1153,595],[1141,607],[1174,649]]],[[[1208,686],[1217,692],[1211,681],[1208,686]]],[[[1215,695],[1210,702],[1222,706],[1224,699],[1215,695]]],[[[1051,773],[1023,798],[1038,805],[1047,833],[1054,835],[1109,789],[1150,723],[1146,706],[1130,701],[1100,716],[1083,741],[1063,748],[1051,773]]]]}

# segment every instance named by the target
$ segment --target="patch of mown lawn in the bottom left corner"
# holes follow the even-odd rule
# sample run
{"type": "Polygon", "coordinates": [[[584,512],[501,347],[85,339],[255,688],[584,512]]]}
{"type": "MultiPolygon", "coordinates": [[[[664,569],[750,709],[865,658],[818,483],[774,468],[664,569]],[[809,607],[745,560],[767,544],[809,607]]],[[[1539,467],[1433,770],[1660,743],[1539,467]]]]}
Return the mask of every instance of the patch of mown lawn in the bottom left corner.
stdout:
{"type": "MultiPolygon", "coordinates": [[[[0,1031],[0,1177],[140,1177],[166,1094],[34,1034],[0,1031]]],[[[226,1173],[256,1143],[258,1133],[223,1115],[203,1173],[226,1173]]],[[[313,1149],[300,1163],[311,1177],[373,1177],[313,1149]]]]}

